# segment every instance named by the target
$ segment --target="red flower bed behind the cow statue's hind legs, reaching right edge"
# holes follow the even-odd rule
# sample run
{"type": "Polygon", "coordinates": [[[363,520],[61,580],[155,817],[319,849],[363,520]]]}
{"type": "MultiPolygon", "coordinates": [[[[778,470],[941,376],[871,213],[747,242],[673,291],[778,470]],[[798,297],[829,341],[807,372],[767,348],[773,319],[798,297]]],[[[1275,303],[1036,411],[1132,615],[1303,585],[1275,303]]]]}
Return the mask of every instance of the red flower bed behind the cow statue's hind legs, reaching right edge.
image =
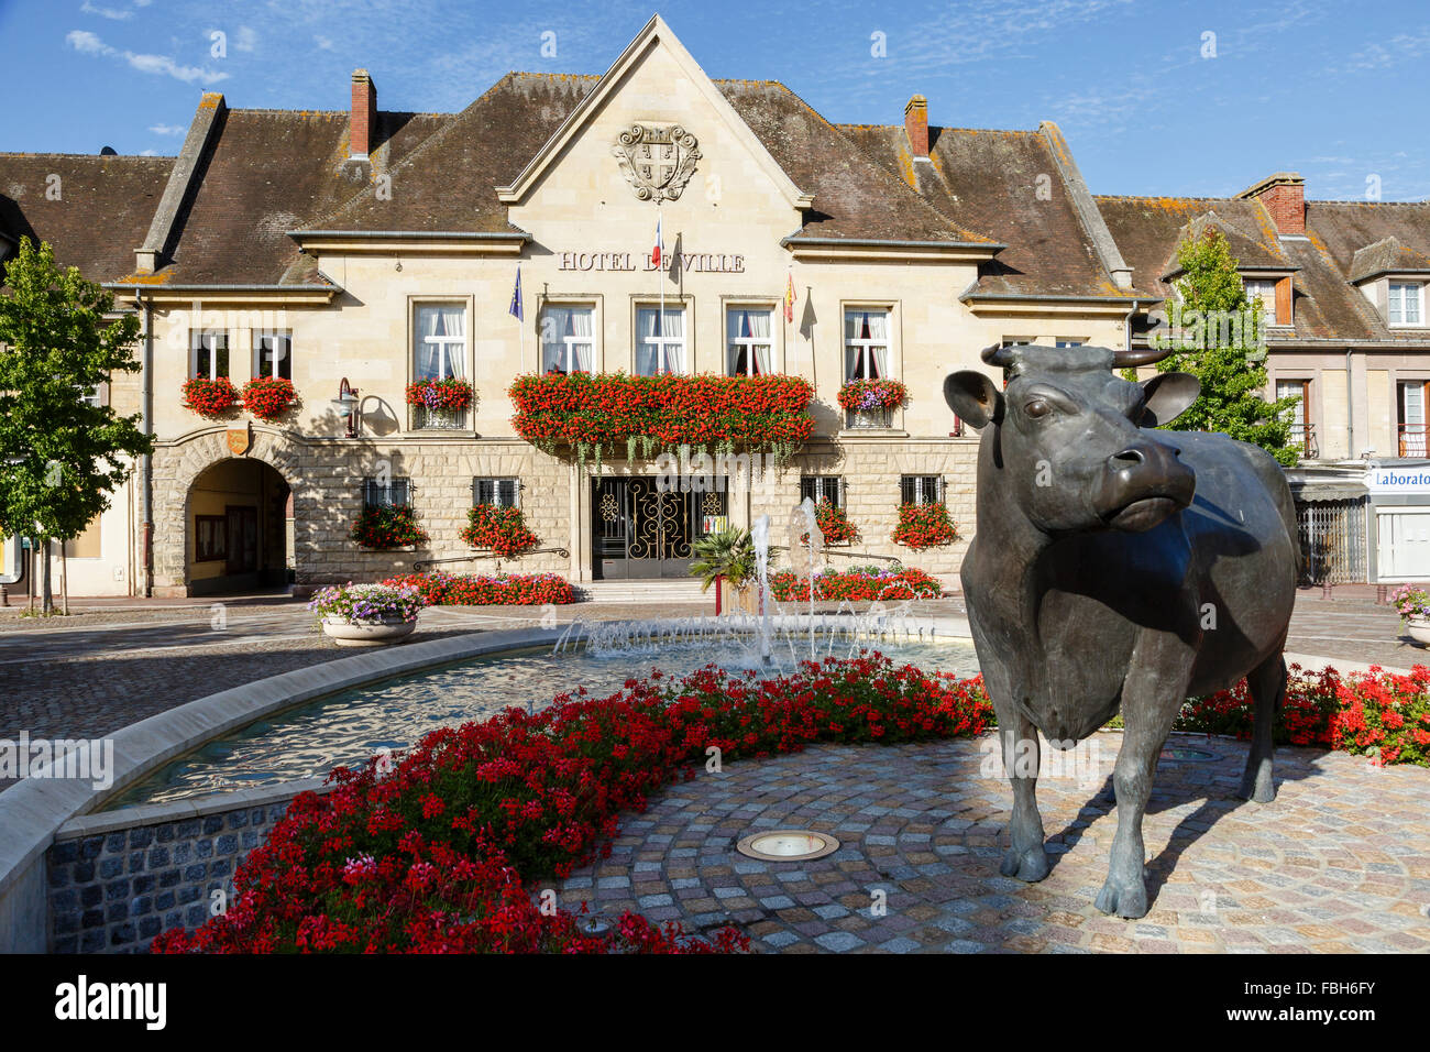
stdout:
{"type": "MultiPolygon", "coordinates": [[[[1410,676],[1371,666],[1369,673],[1327,668],[1314,676],[1291,666],[1276,740],[1377,757],[1377,763],[1430,766],[1430,668],[1410,676]]],[[[1254,707],[1246,681],[1188,701],[1178,730],[1251,737],[1254,707]]]]}

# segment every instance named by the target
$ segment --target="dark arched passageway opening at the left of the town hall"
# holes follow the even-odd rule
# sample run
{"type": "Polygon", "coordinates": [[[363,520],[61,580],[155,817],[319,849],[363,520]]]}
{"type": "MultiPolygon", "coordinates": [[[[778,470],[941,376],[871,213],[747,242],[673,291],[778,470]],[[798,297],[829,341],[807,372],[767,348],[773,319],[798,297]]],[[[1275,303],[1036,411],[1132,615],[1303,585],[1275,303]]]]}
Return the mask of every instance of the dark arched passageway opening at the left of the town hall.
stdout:
{"type": "Polygon", "coordinates": [[[263,461],[232,457],[189,487],[190,595],[285,588],[293,571],[293,491],[263,461]]]}

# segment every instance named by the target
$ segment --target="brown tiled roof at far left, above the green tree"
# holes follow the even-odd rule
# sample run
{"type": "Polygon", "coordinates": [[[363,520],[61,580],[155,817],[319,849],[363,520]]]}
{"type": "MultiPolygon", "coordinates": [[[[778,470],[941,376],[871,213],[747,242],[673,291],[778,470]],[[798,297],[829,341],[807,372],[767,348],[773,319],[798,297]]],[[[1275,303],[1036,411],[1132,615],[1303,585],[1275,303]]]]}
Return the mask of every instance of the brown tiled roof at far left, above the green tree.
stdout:
{"type": "MultiPolygon", "coordinates": [[[[134,266],[173,157],[0,153],[0,230],[47,240],[60,266],[112,281],[134,266]],[[46,196],[59,176],[59,200],[46,196]]],[[[3,249],[4,246],[0,246],[3,249]]]]}

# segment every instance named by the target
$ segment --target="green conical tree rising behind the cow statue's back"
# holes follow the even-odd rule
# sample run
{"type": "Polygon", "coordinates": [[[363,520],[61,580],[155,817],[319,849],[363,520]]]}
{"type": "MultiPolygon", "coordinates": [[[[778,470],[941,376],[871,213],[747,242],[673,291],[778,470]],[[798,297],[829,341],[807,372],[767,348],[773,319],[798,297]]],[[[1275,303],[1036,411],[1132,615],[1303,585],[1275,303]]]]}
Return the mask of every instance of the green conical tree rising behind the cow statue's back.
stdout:
{"type": "Polygon", "coordinates": [[[1181,276],[1173,282],[1173,354],[1157,369],[1190,372],[1201,395],[1171,431],[1220,431],[1260,445],[1284,467],[1298,449],[1291,444],[1296,396],[1267,402],[1266,336],[1261,301],[1247,301],[1237,260],[1216,229],[1177,246],[1181,276]]]}

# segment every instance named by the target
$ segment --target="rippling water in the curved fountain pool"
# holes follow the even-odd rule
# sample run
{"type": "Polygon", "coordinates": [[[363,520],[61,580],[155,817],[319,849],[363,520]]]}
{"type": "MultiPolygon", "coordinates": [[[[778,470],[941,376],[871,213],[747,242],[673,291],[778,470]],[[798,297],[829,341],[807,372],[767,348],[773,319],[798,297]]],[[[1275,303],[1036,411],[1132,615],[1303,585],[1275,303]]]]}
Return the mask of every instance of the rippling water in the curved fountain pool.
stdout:
{"type": "MultiPolygon", "coordinates": [[[[895,661],[928,671],[978,671],[971,643],[905,638],[862,641],[858,647],[878,648],[895,661]]],[[[858,647],[831,641],[821,650],[842,657],[858,647]]],[[[579,647],[559,654],[541,647],[446,666],[320,698],[210,741],[139,783],[109,809],[317,777],[332,767],[362,763],[383,747],[406,749],[438,727],[482,720],[508,706],[542,707],[578,686],[602,697],[652,668],[681,676],[711,663],[731,671],[756,668],[758,644],[752,650],[739,641],[695,638],[689,646],[579,647]]]]}

